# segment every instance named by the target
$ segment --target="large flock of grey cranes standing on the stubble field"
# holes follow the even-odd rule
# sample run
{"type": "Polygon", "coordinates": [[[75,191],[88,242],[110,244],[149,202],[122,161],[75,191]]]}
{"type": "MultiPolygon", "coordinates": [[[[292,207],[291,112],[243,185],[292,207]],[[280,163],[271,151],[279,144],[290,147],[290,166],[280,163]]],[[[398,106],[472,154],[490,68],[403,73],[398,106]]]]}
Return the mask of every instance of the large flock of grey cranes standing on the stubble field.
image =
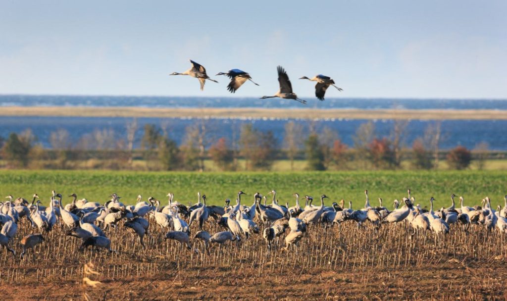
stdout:
{"type": "Polygon", "coordinates": [[[192,250],[190,240],[193,237],[203,242],[204,250],[208,253],[214,244],[222,245],[228,241],[239,244],[242,239],[248,240],[261,233],[269,249],[272,249],[274,240],[284,235],[284,247],[281,250],[288,250],[297,246],[307,231],[325,231],[328,227],[347,220],[356,222],[358,228],[370,223],[376,230],[382,227],[383,223],[406,222],[413,229],[412,235],[416,232],[431,231],[436,234],[436,238],[449,233],[452,224],[458,225],[455,228],[458,231],[461,228],[462,231],[468,232],[470,225],[475,225],[474,227],[485,227],[490,231],[497,229],[501,233],[507,233],[507,196],[504,198],[503,209],[498,206],[494,210],[488,197],[482,200],[481,206],[473,207],[465,206],[463,197],[459,197],[460,206],[456,206],[453,194],[450,207],[434,211],[433,198],[429,200],[430,209],[425,210],[420,204],[415,204],[410,190],[401,202],[394,200],[393,210],[384,207],[380,198],[379,206],[372,206],[368,191],[365,191],[364,208],[357,210],[352,209],[352,201],[349,202],[348,208],[344,206],[344,200],[341,200],[340,204],[334,202],[330,207],[325,206],[324,199],[328,198],[325,195],[320,196],[320,205],[314,205],[311,196],[304,196],[304,207],[300,206],[300,195],[297,193],[294,194],[296,205],[292,207],[289,207],[288,203],[279,205],[274,190],[267,194],[272,195],[269,205],[266,204],[267,196],[259,193],[253,195],[253,203],[250,206],[243,205],[243,195],[246,194],[238,192],[234,206],[230,205],[230,199],[225,201],[225,206],[215,206],[206,205],[206,196],[198,193],[198,202],[186,206],[175,201],[174,195],[169,193],[167,206],[161,206],[159,200],[150,197],[145,202],[140,195],[135,205],[125,205],[120,202],[121,197],[117,194],[111,195],[111,199],[104,204],[86,199],[78,200],[77,195],[72,194],[69,197],[72,197],[73,201],[63,206],[62,195],[53,191],[49,207],[41,205],[37,194],[33,195],[31,203],[23,198],[14,199],[8,196],[8,201],[0,203],[0,244],[13,255],[16,254],[10,245],[23,217],[27,220],[27,227],[37,228],[41,233],[29,234],[21,239],[21,258],[28,249],[33,250],[44,242],[45,234],[55,227],[65,229],[66,236],[81,239],[81,249],[93,246],[115,252],[106,233],[112,228],[120,229],[120,221],[123,221],[123,227],[138,236],[142,248],[145,248],[144,236],[151,236],[150,224],[155,223],[153,227],[168,231],[165,239],[178,241],[192,250]],[[209,234],[205,229],[210,222],[219,224],[224,231],[209,234]],[[318,224],[323,224],[324,227],[317,228],[318,224]],[[192,236],[191,232],[194,231],[192,236]]]}

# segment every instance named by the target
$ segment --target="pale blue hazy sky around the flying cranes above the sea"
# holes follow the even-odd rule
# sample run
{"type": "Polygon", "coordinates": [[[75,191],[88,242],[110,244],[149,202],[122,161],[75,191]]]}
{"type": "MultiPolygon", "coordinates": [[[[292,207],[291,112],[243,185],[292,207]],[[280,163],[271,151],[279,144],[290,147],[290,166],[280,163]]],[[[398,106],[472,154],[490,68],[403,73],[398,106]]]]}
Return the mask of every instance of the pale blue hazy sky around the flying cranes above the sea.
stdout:
{"type": "Polygon", "coordinates": [[[506,1],[0,0],[0,94],[507,99],[506,1]],[[207,82],[168,76],[192,59],[207,82]],[[239,68],[234,95],[216,73],[239,68]]]}

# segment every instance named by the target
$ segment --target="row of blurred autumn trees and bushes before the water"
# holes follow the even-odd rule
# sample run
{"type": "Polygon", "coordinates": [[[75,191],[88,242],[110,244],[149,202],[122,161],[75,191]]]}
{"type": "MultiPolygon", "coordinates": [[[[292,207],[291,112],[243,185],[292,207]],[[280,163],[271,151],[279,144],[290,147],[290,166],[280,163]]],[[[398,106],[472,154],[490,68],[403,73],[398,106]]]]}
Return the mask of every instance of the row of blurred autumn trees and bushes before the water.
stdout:
{"type": "Polygon", "coordinates": [[[271,131],[260,131],[251,124],[239,129],[233,139],[214,137],[204,121],[186,129],[179,145],[164,127],[148,124],[143,135],[136,137],[137,121],[126,126],[126,139],[118,139],[111,129],[86,134],[71,143],[70,134],[63,129],[50,135],[51,148],[44,148],[30,130],[0,137],[3,166],[7,168],[101,168],[147,170],[204,171],[205,162],[212,160],[220,170],[270,170],[276,160],[288,160],[291,169],[298,160],[306,160],[308,170],[349,169],[432,169],[445,160],[449,168],[466,169],[475,161],[483,169],[491,155],[486,143],[472,151],[463,146],[442,151],[441,124],[436,122],[406,145],[408,121],[396,121],[389,133],[375,134],[375,124],[359,126],[353,137],[353,147],[343,143],[336,131],[324,127],[320,131],[310,123],[308,133],[294,121],[287,122],[282,141],[271,131]],[[139,148],[134,148],[140,142],[139,148]],[[135,165],[142,161],[143,165],[135,165]],[[240,164],[241,162],[241,164],[240,164]]]}

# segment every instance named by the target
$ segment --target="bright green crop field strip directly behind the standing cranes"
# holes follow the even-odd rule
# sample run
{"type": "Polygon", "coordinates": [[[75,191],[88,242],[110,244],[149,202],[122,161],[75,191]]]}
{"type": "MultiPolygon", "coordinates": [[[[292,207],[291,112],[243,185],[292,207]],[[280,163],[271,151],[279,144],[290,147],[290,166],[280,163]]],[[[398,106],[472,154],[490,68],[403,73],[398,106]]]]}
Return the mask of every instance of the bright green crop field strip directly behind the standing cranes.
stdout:
{"type": "MultiPolygon", "coordinates": [[[[311,195],[318,203],[318,196],[326,194],[330,201],[352,200],[353,208],[364,206],[365,189],[370,200],[377,205],[378,197],[386,206],[392,200],[407,195],[410,187],[416,203],[428,206],[428,199],[436,198],[436,206],[449,206],[450,195],[462,195],[465,204],[479,204],[489,196],[493,205],[503,206],[507,193],[507,173],[501,171],[348,171],[348,172],[131,172],[131,171],[0,171],[0,196],[13,195],[31,199],[39,194],[48,204],[50,193],[56,190],[65,197],[76,193],[79,198],[104,202],[117,193],[122,202],[131,204],[141,194],[166,203],[168,192],[183,203],[195,203],[197,192],[206,194],[211,204],[223,204],[226,198],[235,199],[239,190],[248,195],[243,201],[251,204],[255,192],[266,194],[275,189],[281,203],[294,203],[292,194],[311,195]]],[[[64,203],[70,198],[64,198],[64,203]]],[[[456,200],[457,201],[457,200],[456,200]]]]}

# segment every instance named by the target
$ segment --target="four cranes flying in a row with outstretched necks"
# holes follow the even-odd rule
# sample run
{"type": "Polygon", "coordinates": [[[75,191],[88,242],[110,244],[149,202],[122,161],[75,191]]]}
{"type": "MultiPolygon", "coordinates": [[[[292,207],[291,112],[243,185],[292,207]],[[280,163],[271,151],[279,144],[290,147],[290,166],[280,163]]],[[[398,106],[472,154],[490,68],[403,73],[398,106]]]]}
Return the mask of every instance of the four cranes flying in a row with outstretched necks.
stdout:
{"type": "MultiPolygon", "coordinates": [[[[169,75],[186,75],[196,78],[199,80],[199,83],[201,84],[201,91],[204,90],[204,84],[206,83],[206,80],[218,83],[217,81],[210,79],[208,77],[208,74],[206,74],[206,69],[202,65],[194,62],[193,60],[190,60],[190,63],[192,64],[192,67],[187,71],[183,73],[173,72],[169,75]]],[[[261,99],[279,97],[284,99],[293,99],[305,104],[306,100],[299,99],[298,95],[296,95],[296,93],[293,92],[291,81],[288,79],[287,72],[285,72],[283,67],[278,66],[276,70],[278,71],[278,83],[280,85],[280,89],[273,96],[263,96],[261,97],[261,99]]],[[[217,76],[225,75],[231,79],[231,82],[227,86],[227,90],[229,90],[231,93],[235,93],[239,89],[239,87],[241,87],[241,85],[243,85],[246,81],[250,81],[253,84],[259,86],[259,84],[252,81],[250,74],[240,69],[231,69],[227,72],[219,72],[216,75],[217,76]]],[[[323,76],[322,74],[318,74],[317,76],[311,79],[307,77],[302,77],[300,78],[300,80],[309,80],[311,82],[317,82],[317,84],[315,85],[315,96],[317,97],[318,100],[321,101],[324,100],[325,91],[328,90],[329,86],[335,87],[336,89],[338,89],[338,91],[343,91],[343,89],[338,88],[335,85],[335,81],[333,81],[330,77],[323,76]]]]}

